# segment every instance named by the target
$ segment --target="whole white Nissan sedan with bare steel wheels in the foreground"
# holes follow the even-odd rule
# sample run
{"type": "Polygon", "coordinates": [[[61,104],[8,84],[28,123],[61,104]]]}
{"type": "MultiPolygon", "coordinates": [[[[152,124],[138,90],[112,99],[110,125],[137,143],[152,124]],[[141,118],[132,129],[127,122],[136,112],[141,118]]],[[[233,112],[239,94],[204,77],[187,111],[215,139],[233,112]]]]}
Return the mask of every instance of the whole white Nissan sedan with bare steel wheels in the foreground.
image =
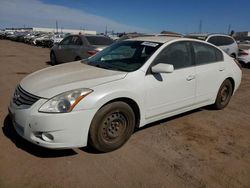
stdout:
{"type": "Polygon", "coordinates": [[[141,37],[27,76],[9,113],[17,133],[34,144],[108,152],[135,127],[206,105],[223,109],[241,76],[236,62],[207,42],[141,37]]]}

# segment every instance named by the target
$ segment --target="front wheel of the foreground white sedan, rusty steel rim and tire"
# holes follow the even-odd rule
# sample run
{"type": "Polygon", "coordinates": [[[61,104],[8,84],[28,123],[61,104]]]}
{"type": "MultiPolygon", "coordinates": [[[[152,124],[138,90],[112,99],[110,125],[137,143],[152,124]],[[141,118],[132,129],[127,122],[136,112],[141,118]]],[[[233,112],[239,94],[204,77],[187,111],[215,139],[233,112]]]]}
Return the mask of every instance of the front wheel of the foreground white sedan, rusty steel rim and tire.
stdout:
{"type": "Polygon", "coordinates": [[[89,143],[100,152],[118,149],[132,135],[135,127],[135,114],[124,102],[113,102],[103,106],[94,116],[89,143]]]}

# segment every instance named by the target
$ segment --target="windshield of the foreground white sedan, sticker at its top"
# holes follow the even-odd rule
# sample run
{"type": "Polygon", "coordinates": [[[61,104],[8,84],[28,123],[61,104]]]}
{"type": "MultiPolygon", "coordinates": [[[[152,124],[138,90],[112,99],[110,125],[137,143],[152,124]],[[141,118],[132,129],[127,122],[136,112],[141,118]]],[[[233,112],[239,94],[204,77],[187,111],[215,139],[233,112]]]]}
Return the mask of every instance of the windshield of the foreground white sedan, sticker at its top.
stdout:
{"type": "Polygon", "coordinates": [[[161,45],[161,43],[147,41],[118,42],[87,59],[87,64],[132,72],[139,69],[161,45]]]}

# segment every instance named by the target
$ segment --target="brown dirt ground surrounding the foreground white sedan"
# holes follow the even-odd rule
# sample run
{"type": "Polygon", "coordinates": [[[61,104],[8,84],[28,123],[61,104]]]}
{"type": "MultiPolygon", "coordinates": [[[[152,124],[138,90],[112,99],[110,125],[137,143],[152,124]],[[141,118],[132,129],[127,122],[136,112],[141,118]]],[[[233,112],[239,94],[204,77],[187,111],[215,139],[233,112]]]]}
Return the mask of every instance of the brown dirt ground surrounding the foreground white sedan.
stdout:
{"type": "Polygon", "coordinates": [[[48,67],[49,50],[0,40],[0,187],[250,187],[250,69],[221,111],[198,109],[148,125],[121,149],[47,150],[16,135],[16,84],[48,67]]]}

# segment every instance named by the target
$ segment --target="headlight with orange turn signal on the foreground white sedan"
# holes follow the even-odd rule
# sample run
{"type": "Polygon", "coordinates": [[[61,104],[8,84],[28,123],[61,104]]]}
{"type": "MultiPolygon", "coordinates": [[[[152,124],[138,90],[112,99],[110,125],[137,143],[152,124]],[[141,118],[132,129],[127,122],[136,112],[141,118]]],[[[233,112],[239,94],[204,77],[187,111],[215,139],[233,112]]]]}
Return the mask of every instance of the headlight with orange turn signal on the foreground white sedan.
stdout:
{"type": "Polygon", "coordinates": [[[51,113],[66,113],[71,112],[74,107],[80,102],[85,96],[90,94],[93,90],[91,89],[76,89],[59,94],[46,103],[44,103],[39,112],[51,112],[51,113]]]}

